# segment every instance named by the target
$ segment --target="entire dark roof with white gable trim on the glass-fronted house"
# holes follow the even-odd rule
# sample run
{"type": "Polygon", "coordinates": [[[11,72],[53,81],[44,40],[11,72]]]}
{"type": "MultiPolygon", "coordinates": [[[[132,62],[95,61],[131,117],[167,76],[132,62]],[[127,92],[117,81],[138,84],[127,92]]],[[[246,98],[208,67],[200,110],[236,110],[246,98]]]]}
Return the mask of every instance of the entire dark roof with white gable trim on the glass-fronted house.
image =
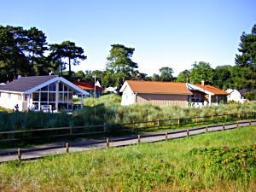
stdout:
{"type": "Polygon", "coordinates": [[[56,81],[61,81],[64,84],[67,84],[72,90],[78,92],[82,95],[90,95],[85,90],[82,90],[77,85],[71,83],[67,79],[50,75],[50,76],[31,76],[31,77],[21,77],[16,79],[9,84],[5,84],[0,87],[0,90],[9,91],[9,92],[20,92],[24,94],[31,94],[32,92],[41,89],[42,87],[52,84],[56,81]]]}

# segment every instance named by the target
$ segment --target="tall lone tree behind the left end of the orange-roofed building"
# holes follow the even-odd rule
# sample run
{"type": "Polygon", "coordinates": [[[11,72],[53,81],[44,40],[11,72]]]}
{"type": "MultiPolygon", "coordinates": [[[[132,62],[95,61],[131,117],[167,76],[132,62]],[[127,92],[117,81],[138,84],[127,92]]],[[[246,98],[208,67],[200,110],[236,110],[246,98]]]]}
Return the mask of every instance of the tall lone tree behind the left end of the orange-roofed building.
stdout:
{"type": "Polygon", "coordinates": [[[137,68],[137,63],[131,61],[134,48],[127,48],[122,44],[112,44],[108,55],[107,71],[114,73],[116,86],[122,84],[125,79],[131,79],[131,73],[137,68]]]}

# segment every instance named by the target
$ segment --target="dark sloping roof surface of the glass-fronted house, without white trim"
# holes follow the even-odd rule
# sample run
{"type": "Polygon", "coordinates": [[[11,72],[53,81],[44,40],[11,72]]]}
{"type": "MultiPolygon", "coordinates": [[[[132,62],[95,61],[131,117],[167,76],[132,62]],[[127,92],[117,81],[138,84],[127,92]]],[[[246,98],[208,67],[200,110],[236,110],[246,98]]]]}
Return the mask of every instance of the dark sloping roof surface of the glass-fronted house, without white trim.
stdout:
{"type": "Polygon", "coordinates": [[[31,76],[31,77],[21,77],[20,79],[15,79],[9,84],[4,84],[1,86],[0,90],[10,90],[15,92],[25,92],[39,84],[44,84],[50,79],[55,79],[55,75],[49,76],[31,76]]]}

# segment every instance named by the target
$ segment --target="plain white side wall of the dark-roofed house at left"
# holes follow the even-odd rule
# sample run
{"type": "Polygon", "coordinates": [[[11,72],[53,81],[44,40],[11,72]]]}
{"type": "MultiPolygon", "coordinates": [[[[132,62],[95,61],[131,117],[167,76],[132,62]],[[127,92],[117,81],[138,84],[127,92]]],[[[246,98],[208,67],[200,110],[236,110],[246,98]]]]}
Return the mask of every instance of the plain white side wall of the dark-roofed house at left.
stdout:
{"type": "Polygon", "coordinates": [[[22,111],[21,94],[1,92],[1,96],[0,96],[1,107],[15,109],[16,104],[18,104],[19,106],[19,111],[22,111]]]}

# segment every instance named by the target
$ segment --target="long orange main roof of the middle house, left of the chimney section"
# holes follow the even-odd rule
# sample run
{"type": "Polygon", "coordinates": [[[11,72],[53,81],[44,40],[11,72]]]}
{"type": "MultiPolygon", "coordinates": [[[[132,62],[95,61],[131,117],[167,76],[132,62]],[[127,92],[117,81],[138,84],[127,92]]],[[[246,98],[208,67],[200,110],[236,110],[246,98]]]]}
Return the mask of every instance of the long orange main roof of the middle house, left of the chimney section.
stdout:
{"type": "Polygon", "coordinates": [[[192,92],[187,89],[186,83],[127,80],[120,92],[125,90],[127,84],[134,93],[192,95],[192,92]]]}

